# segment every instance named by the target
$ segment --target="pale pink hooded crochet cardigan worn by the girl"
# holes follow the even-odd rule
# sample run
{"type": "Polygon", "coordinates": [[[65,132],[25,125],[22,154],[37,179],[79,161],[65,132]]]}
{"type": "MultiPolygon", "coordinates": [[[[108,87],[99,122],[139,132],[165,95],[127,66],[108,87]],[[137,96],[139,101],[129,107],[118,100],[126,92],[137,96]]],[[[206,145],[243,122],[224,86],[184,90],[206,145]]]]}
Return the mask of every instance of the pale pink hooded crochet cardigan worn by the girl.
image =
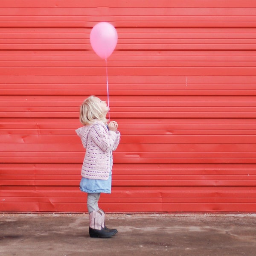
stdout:
{"type": "Polygon", "coordinates": [[[119,131],[108,131],[103,122],[97,121],[76,130],[86,148],[81,175],[87,179],[108,180],[112,166],[112,151],[116,150],[119,131]]]}

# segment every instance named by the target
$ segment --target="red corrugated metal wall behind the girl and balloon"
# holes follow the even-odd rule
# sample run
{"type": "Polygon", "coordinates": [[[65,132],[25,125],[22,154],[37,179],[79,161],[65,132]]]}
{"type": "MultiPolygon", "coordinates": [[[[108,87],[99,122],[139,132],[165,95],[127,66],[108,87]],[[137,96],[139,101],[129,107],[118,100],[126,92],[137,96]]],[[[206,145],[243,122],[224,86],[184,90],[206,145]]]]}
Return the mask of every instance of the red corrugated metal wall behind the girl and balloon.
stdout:
{"type": "Polygon", "coordinates": [[[0,210],[86,210],[74,130],[106,98],[91,28],[111,22],[111,212],[256,211],[256,3],[1,0],[0,210]],[[97,7],[97,8],[96,8],[97,7]]]}

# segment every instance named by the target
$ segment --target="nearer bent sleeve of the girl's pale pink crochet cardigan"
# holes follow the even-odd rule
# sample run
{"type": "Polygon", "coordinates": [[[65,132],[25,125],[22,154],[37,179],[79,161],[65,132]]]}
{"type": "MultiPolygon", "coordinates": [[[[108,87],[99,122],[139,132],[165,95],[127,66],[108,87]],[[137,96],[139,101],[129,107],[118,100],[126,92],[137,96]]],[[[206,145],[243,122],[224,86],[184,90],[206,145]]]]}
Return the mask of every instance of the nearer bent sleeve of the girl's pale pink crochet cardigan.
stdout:
{"type": "Polygon", "coordinates": [[[117,137],[115,132],[108,132],[102,125],[96,124],[93,125],[90,133],[94,143],[96,143],[96,145],[104,152],[113,150],[117,137]]]}

